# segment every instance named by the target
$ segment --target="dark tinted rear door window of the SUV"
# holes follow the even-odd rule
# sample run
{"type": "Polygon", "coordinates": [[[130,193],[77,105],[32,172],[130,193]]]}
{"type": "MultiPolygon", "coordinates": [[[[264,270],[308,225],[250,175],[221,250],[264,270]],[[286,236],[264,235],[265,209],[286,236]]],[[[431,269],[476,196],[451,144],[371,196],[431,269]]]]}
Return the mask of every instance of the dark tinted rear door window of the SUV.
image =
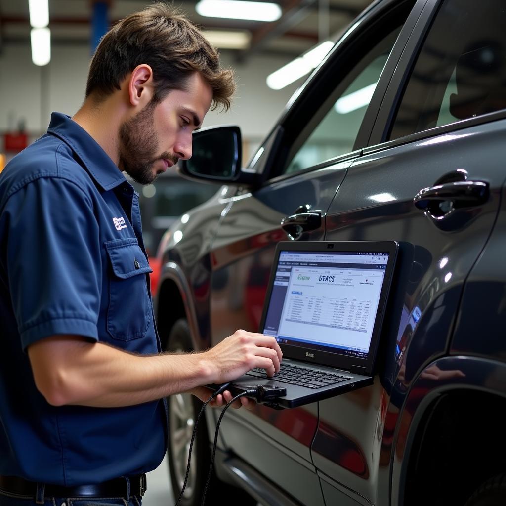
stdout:
{"type": "Polygon", "coordinates": [[[445,0],[426,36],[389,139],[506,108],[506,4],[445,0]]]}

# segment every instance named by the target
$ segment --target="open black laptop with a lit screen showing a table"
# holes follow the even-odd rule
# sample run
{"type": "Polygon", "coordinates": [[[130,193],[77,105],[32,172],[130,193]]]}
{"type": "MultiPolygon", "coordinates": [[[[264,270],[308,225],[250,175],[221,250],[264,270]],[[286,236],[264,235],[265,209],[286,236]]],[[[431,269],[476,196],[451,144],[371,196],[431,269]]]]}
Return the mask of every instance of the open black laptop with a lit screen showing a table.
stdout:
{"type": "Polygon", "coordinates": [[[372,385],[397,250],[395,241],[279,242],[260,332],[276,338],[281,370],[253,369],[227,389],[284,388],[265,403],[293,408],[372,385]]]}

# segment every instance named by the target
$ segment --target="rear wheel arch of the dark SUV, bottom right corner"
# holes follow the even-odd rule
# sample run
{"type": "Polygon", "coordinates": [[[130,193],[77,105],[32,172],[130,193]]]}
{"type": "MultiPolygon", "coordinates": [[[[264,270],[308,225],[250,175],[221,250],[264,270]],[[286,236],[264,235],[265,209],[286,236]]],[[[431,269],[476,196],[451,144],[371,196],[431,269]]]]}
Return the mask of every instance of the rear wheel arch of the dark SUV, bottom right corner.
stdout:
{"type": "Polygon", "coordinates": [[[466,376],[432,388],[420,376],[413,382],[396,428],[392,504],[463,505],[485,480],[506,471],[499,416],[506,408],[506,364],[477,357],[435,364],[466,376]]]}

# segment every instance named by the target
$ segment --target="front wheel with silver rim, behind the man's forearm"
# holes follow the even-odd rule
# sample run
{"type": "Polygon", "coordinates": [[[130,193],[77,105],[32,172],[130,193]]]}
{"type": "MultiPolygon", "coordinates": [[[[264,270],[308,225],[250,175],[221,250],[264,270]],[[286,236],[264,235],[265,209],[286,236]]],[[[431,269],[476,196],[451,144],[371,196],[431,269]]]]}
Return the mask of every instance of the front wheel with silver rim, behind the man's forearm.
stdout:
{"type": "MultiPolygon", "coordinates": [[[[192,341],[188,321],[176,321],[167,339],[167,351],[192,351],[192,341]]],[[[167,397],[168,406],[168,463],[174,498],[177,499],[186,475],[188,449],[194,422],[202,407],[202,402],[193,395],[175,394],[167,397]]],[[[199,506],[207,480],[210,463],[210,447],[205,416],[200,417],[197,434],[193,442],[190,473],[181,506],[199,506]]],[[[243,490],[221,482],[213,472],[206,492],[207,504],[227,504],[227,499],[241,506],[254,506],[257,502],[243,490]]]]}

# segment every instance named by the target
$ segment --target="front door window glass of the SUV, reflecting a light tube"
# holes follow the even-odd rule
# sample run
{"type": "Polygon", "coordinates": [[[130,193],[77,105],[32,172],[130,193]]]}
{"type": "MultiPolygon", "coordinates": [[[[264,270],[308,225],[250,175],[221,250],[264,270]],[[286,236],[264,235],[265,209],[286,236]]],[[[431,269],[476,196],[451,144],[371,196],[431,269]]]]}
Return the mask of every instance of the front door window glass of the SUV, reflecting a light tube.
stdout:
{"type": "Polygon", "coordinates": [[[372,49],[359,59],[302,129],[291,149],[285,174],[353,151],[367,105],[400,29],[397,27],[377,43],[371,41],[368,49],[372,49]]]}

